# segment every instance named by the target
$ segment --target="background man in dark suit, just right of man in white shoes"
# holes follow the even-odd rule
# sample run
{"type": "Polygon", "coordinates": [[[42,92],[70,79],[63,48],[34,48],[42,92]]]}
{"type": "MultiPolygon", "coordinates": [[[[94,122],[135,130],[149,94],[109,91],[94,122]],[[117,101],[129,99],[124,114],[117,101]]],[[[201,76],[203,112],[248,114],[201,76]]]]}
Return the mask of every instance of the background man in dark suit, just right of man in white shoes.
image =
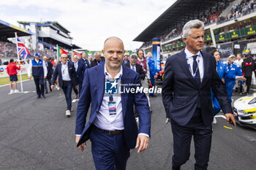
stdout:
{"type": "MultiPolygon", "coordinates": [[[[78,62],[78,55],[74,55],[73,57],[73,64],[75,66],[75,72],[78,77],[78,86],[79,86],[79,96],[80,92],[82,90],[82,85],[83,85],[83,74],[84,71],[86,70],[86,63],[84,62],[78,62]]],[[[78,98],[78,90],[74,87],[73,90],[75,91],[75,98],[78,98]]]]}

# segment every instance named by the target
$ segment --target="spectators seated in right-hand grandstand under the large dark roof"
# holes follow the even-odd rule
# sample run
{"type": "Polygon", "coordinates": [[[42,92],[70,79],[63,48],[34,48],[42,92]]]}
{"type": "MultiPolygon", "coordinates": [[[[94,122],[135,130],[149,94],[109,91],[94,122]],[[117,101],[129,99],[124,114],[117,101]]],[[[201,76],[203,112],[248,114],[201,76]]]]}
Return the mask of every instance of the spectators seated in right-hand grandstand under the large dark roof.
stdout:
{"type": "MultiPolygon", "coordinates": [[[[226,16],[220,16],[220,14],[230,5],[229,2],[222,2],[218,5],[218,7],[214,8],[212,11],[208,12],[203,18],[200,20],[205,23],[206,26],[211,25],[212,23],[224,23],[228,20],[233,20],[239,18],[243,15],[247,15],[251,12],[256,11],[256,0],[242,0],[240,4],[236,4],[231,7],[230,12],[226,16]]],[[[182,35],[182,28],[178,27],[171,31],[166,31],[163,34],[158,35],[161,42],[165,42],[167,40],[173,39],[177,36],[182,35]]],[[[151,41],[143,43],[140,48],[148,47],[152,44],[151,41]]]]}

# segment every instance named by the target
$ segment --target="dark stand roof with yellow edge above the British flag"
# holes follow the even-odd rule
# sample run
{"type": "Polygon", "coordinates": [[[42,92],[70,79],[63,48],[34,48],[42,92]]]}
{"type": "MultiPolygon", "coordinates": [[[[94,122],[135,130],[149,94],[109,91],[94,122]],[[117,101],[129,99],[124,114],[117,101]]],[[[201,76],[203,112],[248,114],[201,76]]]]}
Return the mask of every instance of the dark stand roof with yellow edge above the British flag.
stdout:
{"type": "Polygon", "coordinates": [[[0,37],[4,37],[4,39],[15,37],[15,32],[17,33],[18,36],[33,35],[31,31],[4,22],[4,20],[0,20],[0,37]]]}

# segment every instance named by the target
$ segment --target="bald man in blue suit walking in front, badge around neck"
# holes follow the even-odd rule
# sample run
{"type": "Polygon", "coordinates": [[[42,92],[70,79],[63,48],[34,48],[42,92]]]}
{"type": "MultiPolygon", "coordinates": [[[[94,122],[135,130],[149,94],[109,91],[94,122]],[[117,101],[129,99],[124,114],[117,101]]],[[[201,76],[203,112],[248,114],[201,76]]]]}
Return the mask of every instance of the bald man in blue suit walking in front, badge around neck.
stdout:
{"type": "Polygon", "coordinates": [[[130,149],[139,147],[141,152],[148,147],[151,114],[145,93],[135,91],[141,87],[139,74],[121,66],[121,39],[106,39],[102,53],[105,62],[86,69],[84,75],[75,123],[76,144],[83,151],[86,140],[91,140],[96,169],[124,170],[130,149]],[[91,115],[86,124],[90,104],[91,115]],[[134,104],[140,118],[139,129],[134,104]]]}

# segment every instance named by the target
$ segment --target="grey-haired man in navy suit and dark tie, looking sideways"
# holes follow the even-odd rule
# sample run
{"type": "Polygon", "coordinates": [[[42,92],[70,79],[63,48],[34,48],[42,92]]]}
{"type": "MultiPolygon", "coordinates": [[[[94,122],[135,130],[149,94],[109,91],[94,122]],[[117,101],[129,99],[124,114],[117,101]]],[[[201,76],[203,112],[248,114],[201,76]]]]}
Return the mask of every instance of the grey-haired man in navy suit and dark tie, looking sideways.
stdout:
{"type": "Polygon", "coordinates": [[[201,50],[204,25],[190,20],[183,28],[187,47],[167,58],[162,83],[162,101],[173,131],[173,169],[189,159],[191,139],[195,143],[195,169],[207,169],[211,150],[213,109],[211,89],[227,122],[236,126],[225,85],[216,71],[215,58],[201,50]]]}

